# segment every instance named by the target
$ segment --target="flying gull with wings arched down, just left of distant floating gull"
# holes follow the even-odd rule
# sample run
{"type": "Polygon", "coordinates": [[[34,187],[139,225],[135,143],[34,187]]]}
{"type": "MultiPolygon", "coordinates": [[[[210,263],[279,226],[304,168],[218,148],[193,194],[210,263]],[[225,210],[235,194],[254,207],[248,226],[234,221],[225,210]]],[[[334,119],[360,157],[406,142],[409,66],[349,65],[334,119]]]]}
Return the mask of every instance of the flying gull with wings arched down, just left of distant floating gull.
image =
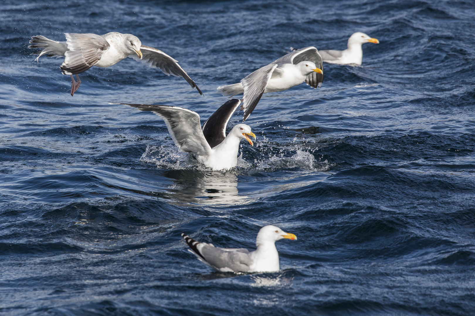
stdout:
{"type": "Polygon", "coordinates": [[[322,86],[322,57],[314,46],[297,49],[257,69],[241,82],[219,86],[217,89],[224,96],[244,93],[241,109],[245,110],[242,120],[245,122],[263,93],[287,90],[304,81],[312,88],[322,86]]]}

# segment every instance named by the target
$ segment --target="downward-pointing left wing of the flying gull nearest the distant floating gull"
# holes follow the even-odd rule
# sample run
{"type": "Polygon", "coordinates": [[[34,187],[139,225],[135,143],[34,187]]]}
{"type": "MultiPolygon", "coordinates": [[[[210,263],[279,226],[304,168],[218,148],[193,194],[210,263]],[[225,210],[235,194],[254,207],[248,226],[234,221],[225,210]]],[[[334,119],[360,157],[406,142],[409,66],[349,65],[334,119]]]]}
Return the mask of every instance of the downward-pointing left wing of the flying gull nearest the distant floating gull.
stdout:
{"type": "Polygon", "coordinates": [[[242,86],[244,87],[243,109],[245,112],[243,122],[246,121],[247,117],[249,117],[254,108],[256,108],[264,90],[266,90],[267,82],[269,82],[272,72],[274,72],[276,67],[277,63],[269,63],[241,80],[242,86]]]}

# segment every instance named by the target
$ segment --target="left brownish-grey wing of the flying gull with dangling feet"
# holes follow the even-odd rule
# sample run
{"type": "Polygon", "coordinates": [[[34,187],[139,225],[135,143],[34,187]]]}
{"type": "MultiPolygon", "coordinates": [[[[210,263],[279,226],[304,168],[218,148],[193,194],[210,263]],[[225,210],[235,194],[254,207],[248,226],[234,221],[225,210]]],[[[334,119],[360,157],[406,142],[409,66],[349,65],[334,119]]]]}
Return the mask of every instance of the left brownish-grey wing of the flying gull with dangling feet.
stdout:
{"type": "Polygon", "coordinates": [[[61,70],[64,74],[84,72],[94,66],[109,49],[104,37],[92,33],[65,33],[67,51],[61,70]]]}

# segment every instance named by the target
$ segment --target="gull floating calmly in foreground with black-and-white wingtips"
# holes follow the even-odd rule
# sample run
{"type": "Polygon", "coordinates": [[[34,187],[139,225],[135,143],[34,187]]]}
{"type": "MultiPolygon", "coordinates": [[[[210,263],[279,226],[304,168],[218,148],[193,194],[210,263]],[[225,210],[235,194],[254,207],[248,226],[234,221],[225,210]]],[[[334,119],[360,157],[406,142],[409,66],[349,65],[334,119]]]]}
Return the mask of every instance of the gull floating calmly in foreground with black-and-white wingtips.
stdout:
{"type": "Polygon", "coordinates": [[[297,240],[297,236],[285,233],[274,225],[267,225],[259,230],[256,237],[255,251],[245,248],[219,248],[213,244],[200,243],[190,236],[181,234],[188,249],[199,261],[211,269],[220,272],[276,272],[279,271],[279,253],[276,241],[281,239],[297,240]]]}

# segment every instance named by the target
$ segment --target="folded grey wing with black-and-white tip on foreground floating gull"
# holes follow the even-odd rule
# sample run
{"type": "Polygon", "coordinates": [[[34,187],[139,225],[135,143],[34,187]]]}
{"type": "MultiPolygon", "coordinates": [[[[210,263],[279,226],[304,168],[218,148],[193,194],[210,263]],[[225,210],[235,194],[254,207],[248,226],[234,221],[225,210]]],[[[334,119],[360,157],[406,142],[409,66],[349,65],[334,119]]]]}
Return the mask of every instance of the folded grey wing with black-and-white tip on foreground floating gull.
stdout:
{"type": "Polygon", "coordinates": [[[252,259],[247,249],[218,248],[212,244],[200,243],[185,234],[181,235],[191,248],[188,251],[210,268],[221,272],[247,272],[250,270],[252,259]]]}

